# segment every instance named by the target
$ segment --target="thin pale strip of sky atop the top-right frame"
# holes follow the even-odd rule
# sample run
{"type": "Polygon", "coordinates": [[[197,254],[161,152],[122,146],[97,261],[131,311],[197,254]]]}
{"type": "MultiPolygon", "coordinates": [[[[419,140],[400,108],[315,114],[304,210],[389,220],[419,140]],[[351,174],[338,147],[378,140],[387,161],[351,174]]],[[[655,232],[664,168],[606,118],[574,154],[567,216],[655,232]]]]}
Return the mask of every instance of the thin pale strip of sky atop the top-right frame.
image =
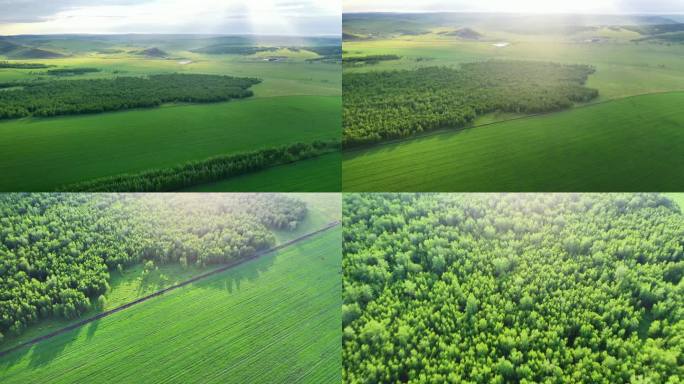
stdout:
{"type": "Polygon", "coordinates": [[[344,12],[684,13],[684,0],[342,0],[344,12]]]}

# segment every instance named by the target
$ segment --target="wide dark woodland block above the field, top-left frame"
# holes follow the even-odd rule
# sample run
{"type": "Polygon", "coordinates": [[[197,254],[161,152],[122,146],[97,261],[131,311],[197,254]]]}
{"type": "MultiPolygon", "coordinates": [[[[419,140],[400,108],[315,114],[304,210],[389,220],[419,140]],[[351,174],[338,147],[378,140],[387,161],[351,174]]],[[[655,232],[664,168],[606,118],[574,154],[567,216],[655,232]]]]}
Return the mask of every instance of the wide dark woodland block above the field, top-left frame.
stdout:
{"type": "Polygon", "coordinates": [[[206,103],[252,96],[254,78],[166,74],[113,79],[25,83],[0,92],[0,119],[57,116],[131,108],[169,102],[206,103]]]}

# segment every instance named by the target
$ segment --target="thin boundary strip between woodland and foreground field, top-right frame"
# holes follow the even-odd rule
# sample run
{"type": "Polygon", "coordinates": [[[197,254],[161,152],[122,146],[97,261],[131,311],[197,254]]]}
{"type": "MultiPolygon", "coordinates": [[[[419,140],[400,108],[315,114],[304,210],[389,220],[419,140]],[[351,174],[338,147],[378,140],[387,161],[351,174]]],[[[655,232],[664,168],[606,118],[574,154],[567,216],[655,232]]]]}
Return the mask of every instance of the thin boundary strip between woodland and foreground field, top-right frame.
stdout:
{"type": "MultiPolygon", "coordinates": [[[[424,132],[424,133],[420,133],[417,135],[411,135],[411,136],[407,136],[407,137],[399,137],[396,139],[391,139],[391,140],[387,140],[387,141],[380,141],[377,143],[372,143],[372,144],[367,144],[367,145],[354,146],[354,147],[348,148],[348,149],[344,149],[344,147],[343,147],[342,148],[342,156],[347,156],[347,155],[356,156],[356,155],[362,154],[363,152],[367,152],[367,151],[370,151],[370,150],[373,150],[376,148],[382,148],[382,147],[389,146],[392,144],[399,144],[399,143],[404,143],[407,141],[418,140],[418,139],[422,139],[425,137],[432,137],[432,136],[438,136],[438,135],[443,135],[443,134],[447,134],[447,133],[457,133],[457,132],[462,132],[462,131],[468,131],[468,130],[475,129],[475,128],[483,128],[483,127],[488,127],[488,126],[495,125],[495,124],[502,124],[502,123],[508,123],[511,121],[530,119],[533,117],[554,115],[554,114],[569,112],[569,111],[573,111],[573,110],[577,110],[577,109],[584,109],[584,108],[593,107],[593,106],[597,106],[597,105],[608,104],[608,103],[612,103],[615,101],[633,99],[633,98],[637,98],[637,97],[641,97],[641,96],[667,95],[667,94],[674,94],[674,93],[684,93],[684,90],[640,93],[637,95],[629,95],[629,96],[624,96],[624,97],[618,97],[615,99],[596,101],[593,103],[589,102],[589,103],[584,103],[584,104],[579,104],[579,105],[573,105],[570,108],[561,109],[561,110],[557,110],[557,111],[533,113],[530,115],[514,117],[511,119],[492,121],[491,123],[473,125],[470,127],[466,126],[466,127],[460,127],[460,128],[437,128],[437,129],[434,129],[434,130],[431,130],[428,132],[424,132]]],[[[342,161],[344,162],[344,159],[342,161]]]]}

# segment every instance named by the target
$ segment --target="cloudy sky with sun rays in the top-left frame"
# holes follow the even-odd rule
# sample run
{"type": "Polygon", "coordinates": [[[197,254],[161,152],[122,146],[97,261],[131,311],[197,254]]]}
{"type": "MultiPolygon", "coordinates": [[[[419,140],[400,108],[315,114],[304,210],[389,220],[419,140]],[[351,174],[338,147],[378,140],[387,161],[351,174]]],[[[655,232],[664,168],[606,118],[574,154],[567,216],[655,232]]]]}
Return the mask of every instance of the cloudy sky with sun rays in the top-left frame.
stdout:
{"type": "Polygon", "coordinates": [[[0,0],[0,35],[341,34],[340,0],[0,0]]]}

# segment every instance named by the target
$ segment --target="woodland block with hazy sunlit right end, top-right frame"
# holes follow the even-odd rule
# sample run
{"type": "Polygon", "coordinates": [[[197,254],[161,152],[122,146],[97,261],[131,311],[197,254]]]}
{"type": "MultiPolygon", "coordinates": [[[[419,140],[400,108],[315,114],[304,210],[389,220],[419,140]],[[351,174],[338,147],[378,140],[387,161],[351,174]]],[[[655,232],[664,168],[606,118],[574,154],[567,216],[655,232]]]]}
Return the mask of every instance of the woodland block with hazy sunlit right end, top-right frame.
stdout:
{"type": "Polygon", "coordinates": [[[459,128],[494,111],[538,113],[589,101],[593,68],[527,61],[487,61],[460,69],[346,73],[343,144],[354,146],[438,128],[459,128]]]}

